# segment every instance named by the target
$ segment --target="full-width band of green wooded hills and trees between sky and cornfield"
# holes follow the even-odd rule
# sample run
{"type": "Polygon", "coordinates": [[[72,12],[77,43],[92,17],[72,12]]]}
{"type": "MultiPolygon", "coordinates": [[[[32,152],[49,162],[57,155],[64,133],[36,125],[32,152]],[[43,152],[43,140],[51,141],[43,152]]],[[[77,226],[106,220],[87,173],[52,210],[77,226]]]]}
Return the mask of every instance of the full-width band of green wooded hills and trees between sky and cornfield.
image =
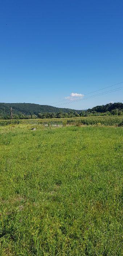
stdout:
{"type": "Polygon", "coordinates": [[[87,110],[56,108],[33,103],[0,103],[0,119],[10,119],[10,106],[13,111],[13,119],[123,115],[123,103],[120,102],[108,103],[87,110]]]}

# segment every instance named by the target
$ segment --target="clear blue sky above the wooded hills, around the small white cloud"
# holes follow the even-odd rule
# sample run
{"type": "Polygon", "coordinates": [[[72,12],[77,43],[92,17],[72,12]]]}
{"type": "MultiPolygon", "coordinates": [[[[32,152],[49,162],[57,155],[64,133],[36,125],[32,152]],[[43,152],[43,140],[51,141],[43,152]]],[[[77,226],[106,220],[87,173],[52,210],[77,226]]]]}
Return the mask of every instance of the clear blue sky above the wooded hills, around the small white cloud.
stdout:
{"type": "MultiPolygon", "coordinates": [[[[122,0],[2,1],[0,102],[49,104],[122,81],[122,0]]],[[[123,90],[61,106],[120,100],[123,90]]]]}

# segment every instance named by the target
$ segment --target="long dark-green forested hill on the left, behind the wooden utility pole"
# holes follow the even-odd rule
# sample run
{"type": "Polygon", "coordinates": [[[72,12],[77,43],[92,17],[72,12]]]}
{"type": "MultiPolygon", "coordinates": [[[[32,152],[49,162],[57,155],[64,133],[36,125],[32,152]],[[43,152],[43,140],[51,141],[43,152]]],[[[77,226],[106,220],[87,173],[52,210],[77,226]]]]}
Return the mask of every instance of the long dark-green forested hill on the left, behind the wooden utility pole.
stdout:
{"type": "MultiPolygon", "coordinates": [[[[48,105],[39,105],[33,103],[0,103],[0,116],[10,115],[10,107],[12,107],[13,114],[16,115],[38,115],[39,113],[68,113],[77,110],[67,108],[56,108],[48,105]]],[[[78,110],[81,112],[81,110],[78,110]]]]}

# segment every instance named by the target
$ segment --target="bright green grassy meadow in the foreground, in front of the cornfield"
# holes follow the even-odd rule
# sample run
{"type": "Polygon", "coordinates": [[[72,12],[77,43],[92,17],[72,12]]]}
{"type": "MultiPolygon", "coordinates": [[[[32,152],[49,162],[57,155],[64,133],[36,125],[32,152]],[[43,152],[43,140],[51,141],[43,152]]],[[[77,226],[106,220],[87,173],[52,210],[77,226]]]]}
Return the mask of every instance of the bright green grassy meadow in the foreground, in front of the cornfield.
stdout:
{"type": "Polygon", "coordinates": [[[123,127],[0,128],[0,256],[121,256],[123,127]]]}

